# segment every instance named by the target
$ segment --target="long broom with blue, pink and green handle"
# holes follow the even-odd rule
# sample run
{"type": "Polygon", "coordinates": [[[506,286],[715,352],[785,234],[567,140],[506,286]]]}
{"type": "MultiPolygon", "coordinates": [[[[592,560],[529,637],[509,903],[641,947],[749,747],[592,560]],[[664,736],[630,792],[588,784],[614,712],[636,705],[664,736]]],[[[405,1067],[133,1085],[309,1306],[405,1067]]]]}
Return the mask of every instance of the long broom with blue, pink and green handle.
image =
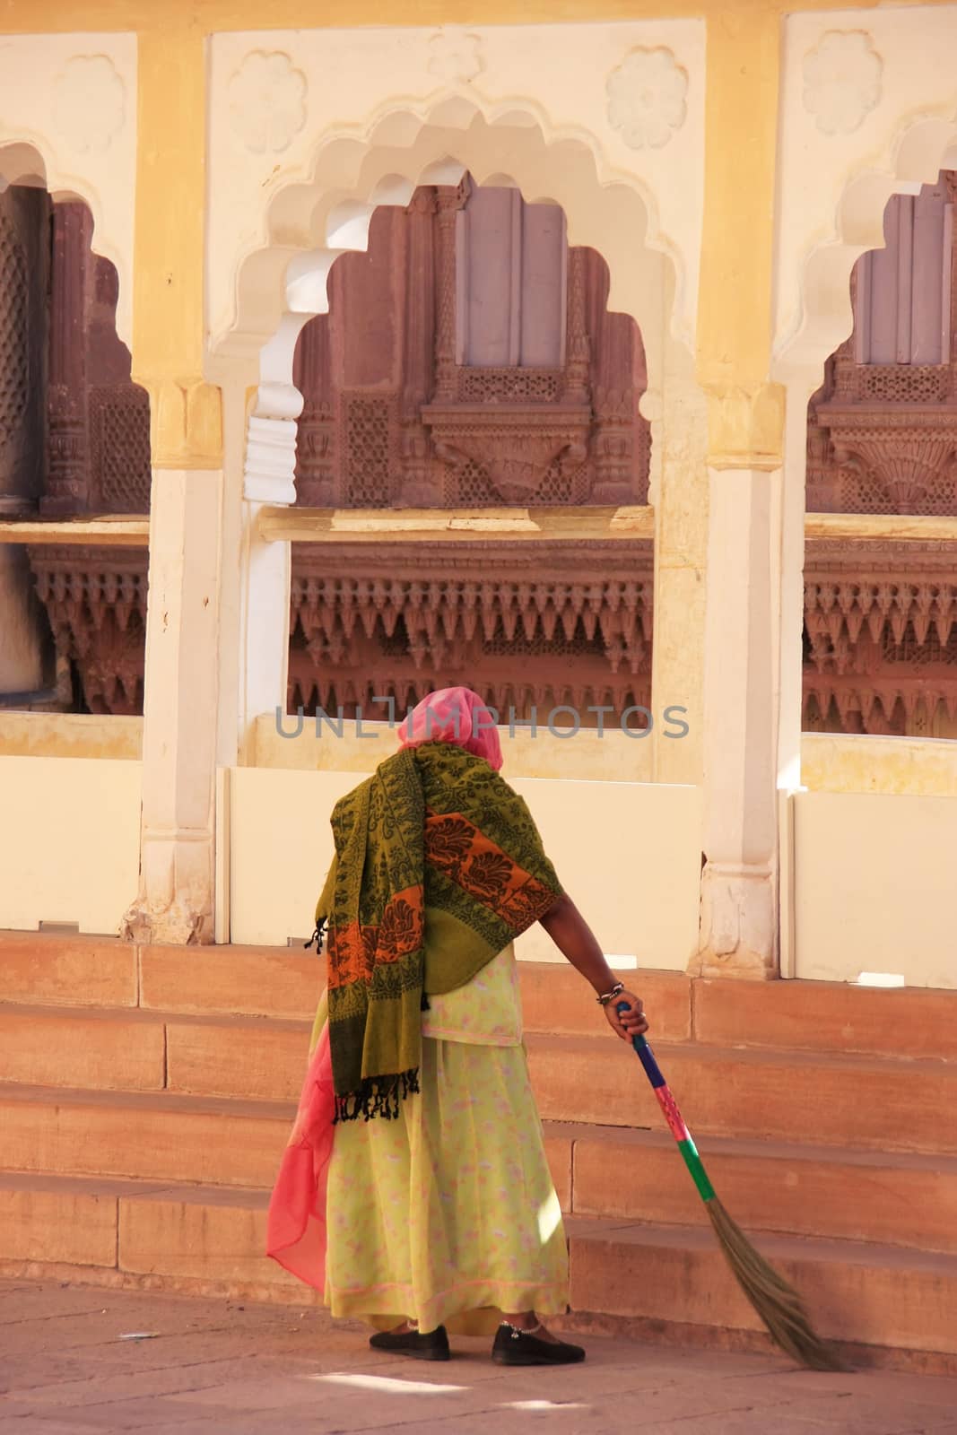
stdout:
{"type": "MultiPolygon", "coordinates": [[[[621,1016],[628,1007],[623,1002],[617,1010],[618,1016],[621,1016]]],[[[660,1072],[649,1042],[644,1036],[633,1036],[631,1045],[644,1068],[644,1075],[651,1082],[654,1095],[664,1112],[664,1119],[684,1158],[684,1165],[697,1187],[699,1195],[704,1201],[704,1210],[710,1217],[717,1241],[727,1257],[727,1264],[735,1273],[737,1284],[768,1327],[769,1335],[778,1342],[782,1350],[786,1350],[792,1359],[799,1365],[808,1366],[811,1370],[847,1369],[835,1352],[812,1330],[798,1292],[755,1250],[742,1228],[732,1221],[717,1200],[715,1187],[709,1181],[704,1164],[697,1154],[697,1147],[682,1119],[682,1112],[677,1109],[677,1102],[660,1072]]]]}

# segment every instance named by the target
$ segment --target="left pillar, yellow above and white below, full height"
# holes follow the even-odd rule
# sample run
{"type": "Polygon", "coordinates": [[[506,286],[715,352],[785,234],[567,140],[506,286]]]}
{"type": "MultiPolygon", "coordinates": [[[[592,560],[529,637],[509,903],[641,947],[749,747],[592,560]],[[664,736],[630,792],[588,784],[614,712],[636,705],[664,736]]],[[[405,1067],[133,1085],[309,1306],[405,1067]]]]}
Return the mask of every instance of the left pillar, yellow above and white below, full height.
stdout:
{"type": "Polygon", "coordinates": [[[222,534],[221,396],[204,382],[205,50],[188,19],[139,34],[133,377],[152,498],[141,885],[123,931],[211,941],[222,534]]]}

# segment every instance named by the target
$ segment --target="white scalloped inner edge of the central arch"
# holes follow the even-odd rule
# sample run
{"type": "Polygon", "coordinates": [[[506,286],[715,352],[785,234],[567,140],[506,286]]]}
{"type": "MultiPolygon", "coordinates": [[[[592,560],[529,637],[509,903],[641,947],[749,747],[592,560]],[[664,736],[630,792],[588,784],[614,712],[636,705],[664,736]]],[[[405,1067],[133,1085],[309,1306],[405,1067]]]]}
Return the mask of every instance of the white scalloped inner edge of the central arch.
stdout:
{"type": "MultiPolygon", "coordinates": [[[[407,204],[418,185],[455,184],[465,169],[479,184],[506,181],[529,202],[561,205],[568,241],[608,265],[608,307],[631,314],[643,336],[661,334],[663,291],[671,313],[680,309],[680,255],[660,232],[653,198],[636,177],[608,171],[593,136],[551,133],[529,100],[489,113],[465,98],[428,112],[389,109],[364,131],[327,132],[313,154],[310,172],[280,181],[264,205],[258,243],[235,278],[235,321],[211,339],[217,367],[258,359],[261,383],[290,383],[298,331],[327,311],[336,258],[367,247],[376,207],[407,204]]],[[[660,360],[646,347],[653,387],[660,360]]]]}

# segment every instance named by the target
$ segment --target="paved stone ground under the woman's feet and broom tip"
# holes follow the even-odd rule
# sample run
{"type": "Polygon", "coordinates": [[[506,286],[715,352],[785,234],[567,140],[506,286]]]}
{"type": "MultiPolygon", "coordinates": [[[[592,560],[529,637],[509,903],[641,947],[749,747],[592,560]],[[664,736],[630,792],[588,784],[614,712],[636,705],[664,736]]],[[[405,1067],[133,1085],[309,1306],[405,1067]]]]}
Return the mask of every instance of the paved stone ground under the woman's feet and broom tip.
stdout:
{"type": "Polygon", "coordinates": [[[3,1280],[0,1431],[957,1435],[957,1380],[598,1337],[583,1366],[502,1370],[486,1342],[455,1346],[418,1365],[319,1310],[3,1280]]]}

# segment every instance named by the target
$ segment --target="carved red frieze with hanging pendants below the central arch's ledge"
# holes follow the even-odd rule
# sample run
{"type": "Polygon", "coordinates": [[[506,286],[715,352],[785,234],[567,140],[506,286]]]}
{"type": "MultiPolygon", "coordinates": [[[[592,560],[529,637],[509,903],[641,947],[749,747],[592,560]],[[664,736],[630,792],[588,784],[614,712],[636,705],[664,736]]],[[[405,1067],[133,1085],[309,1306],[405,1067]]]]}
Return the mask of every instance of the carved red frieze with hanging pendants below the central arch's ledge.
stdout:
{"type": "MultiPolygon", "coordinates": [[[[300,547],[293,560],[290,700],[334,712],[415,702],[443,682],[502,713],[646,703],[651,545],[300,547]],[[600,578],[594,574],[598,571],[600,578]]],[[[383,713],[385,716],[385,713],[383,713]]]]}

